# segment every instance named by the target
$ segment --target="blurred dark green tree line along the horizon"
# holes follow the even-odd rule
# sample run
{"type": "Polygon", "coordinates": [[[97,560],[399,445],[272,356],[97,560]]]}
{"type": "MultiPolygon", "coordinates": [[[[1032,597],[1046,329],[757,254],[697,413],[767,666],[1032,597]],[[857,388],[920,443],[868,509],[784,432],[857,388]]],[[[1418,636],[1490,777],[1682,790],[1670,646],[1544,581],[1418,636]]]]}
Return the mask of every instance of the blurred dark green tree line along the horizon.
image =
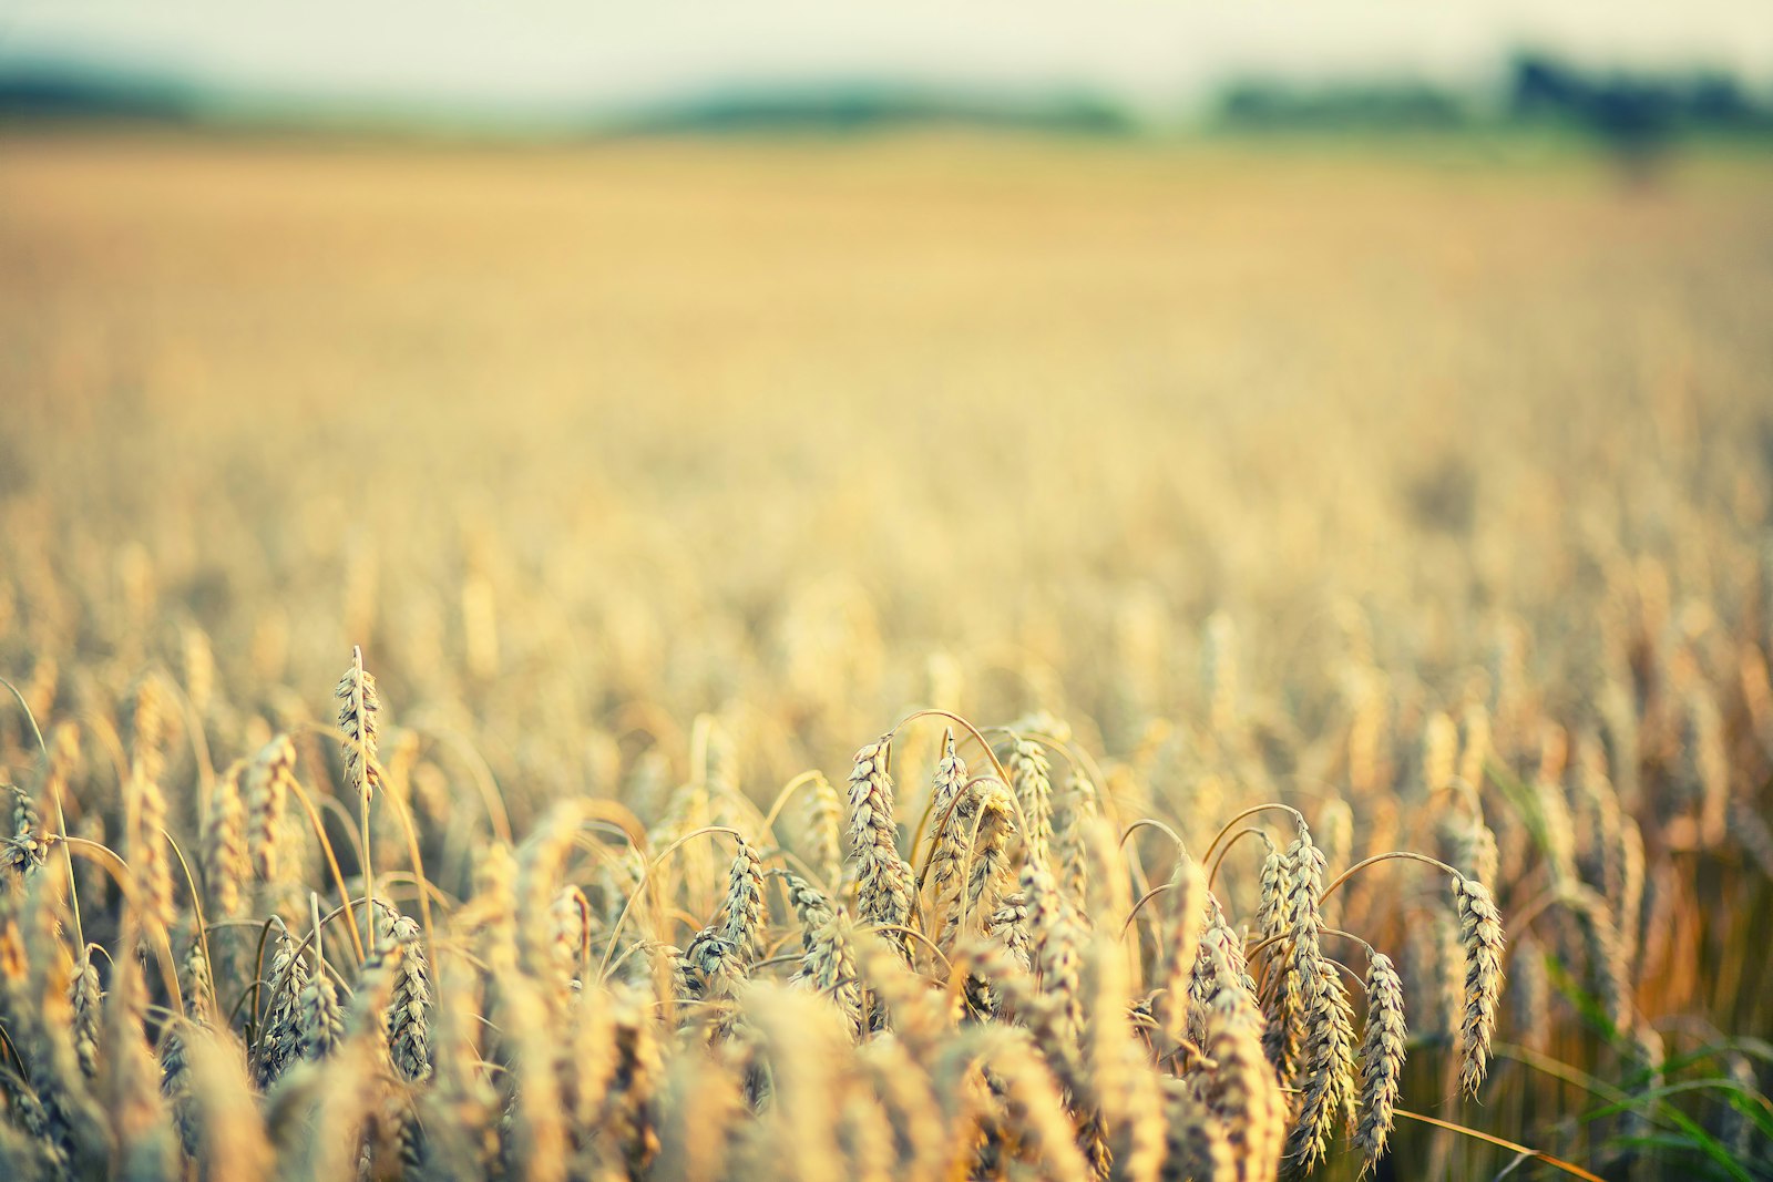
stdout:
{"type": "MultiPolygon", "coordinates": [[[[321,106],[255,105],[250,94],[209,90],[172,74],[37,62],[0,71],[0,124],[51,119],[144,119],[303,126],[321,106]],[[257,122],[255,122],[257,121],[257,122]]],[[[406,113],[383,122],[399,128],[406,113]]],[[[374,110],[358,113],[379,126],[374,110]]],[[[722,87],[628,112],[583,112],[585,135],[858,133],[904,126],[963,126],[1064,135],[1129,135],[1145,126],[1133,110],[1089,90],[993,94],[940,85],[837,82],[826,85],[722,87]]],[[[1516,53],[1489,94],[1408,78],[1301,83],[1243,78],[1211,106],[1229,131],[1449,131],[1464,128],[1567,128],[1596,136],[1626,161],[1652,159],[1690,133],[1773,136],[1773,96],[1755,94],[1720,69],[1663,73],[1596,71],[1541,51],[1516,53]],[[1500,101],[1498,101],[1500,99],[1500,101]]]]}

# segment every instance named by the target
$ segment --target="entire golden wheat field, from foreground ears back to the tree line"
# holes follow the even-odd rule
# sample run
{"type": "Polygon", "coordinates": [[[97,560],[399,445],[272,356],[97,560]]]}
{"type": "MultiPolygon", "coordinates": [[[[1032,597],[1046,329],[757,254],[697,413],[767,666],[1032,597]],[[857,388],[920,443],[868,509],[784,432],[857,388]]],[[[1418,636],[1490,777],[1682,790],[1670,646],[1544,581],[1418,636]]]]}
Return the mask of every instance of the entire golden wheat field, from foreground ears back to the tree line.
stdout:
{"type": "Polygon", "coordinates": [[[1773,1177],[1773,163],[0,135],[9,1178],[1773,1177]]]}

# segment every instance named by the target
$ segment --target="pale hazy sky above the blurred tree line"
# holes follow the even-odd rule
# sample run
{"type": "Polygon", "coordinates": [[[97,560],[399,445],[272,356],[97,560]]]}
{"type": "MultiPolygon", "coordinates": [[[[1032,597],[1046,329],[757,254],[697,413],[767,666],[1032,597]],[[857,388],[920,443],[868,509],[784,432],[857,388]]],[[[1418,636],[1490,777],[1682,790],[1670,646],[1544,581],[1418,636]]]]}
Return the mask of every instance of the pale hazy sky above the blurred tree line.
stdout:
{"type": "Polygon", "coordinates": [[[0,74],[151,69],[278,99],[622,108],[895,82],[1199,103],[1227,78],[1482,87],[1516,46],[1773,89],[1773,0],[0,0],[0,74]]]}

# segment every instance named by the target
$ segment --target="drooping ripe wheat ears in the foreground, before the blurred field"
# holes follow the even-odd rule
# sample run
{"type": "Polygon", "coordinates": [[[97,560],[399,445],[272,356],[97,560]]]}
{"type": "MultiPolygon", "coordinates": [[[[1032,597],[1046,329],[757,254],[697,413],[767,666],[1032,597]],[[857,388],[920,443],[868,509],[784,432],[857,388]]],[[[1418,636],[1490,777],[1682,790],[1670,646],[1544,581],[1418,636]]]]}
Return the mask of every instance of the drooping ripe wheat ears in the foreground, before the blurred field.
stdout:
{"type": "MultiPolygon", "coordinates": [[[[711,755],[693,805],[651,833],[562,801],[516,849],[482,835],[473,893],[449,906],[417,859],[441,856],[436,835],[415,829],[413,865],[371,879],[367,810],[404,785],[378,760],[381,702],[360,656],[339,700],[332,790],[332,762],[303,769],[294,735],[209,785],[183,909],[163,806],[145,806],[163,767],[152,691],[112,785],[137,817],[128,863],[39,820],[108,803],[64,799],[66,753],[43,758],[55,799],[16,792],[23,852],[0,897],[0,1143],[16,1177],[1268,1178],[1317,1168],[1349,1134],[1362,1168],[1385,1152],[1404,985],[1369,946],[1356,1037],[1330,948],[1362,941],[1326,920],[1353,870],[1326,886],[1293,808],[1243,810],[1234,824],[1277,817],[1282,831],[1227,826],[1204,863],[1175,838],[1174,872],[1151,890],[1074,744],[1012,732],[1005,769],[949,716],[917,865],[890,771],[901,725],[855,758],[847,867],[828,865],[828,810],[808,813],[796,854],[771,824],[784,801],[761,817],[711,755]],[[968,774],[965,744],[989,771],[968,774]],[[1062,810],[1053,758],[1071,769],[1062,810]],[[337,844],[316,796],[355,805],[365,842],[337,844]],[[1271,851],[1248,927],[1213,890],[1241,835],[1271,851]],[[684,872],[707,844],[734,849],[718,897],[684,872]],[[115,904],[76,902],[55,845],[105,867],[115,904]],[[683,952],[679,920],[699,925],[683,952]]],[[[723,750],[711,728],[700,743],[723,750]]],[[[819,776],[796,789],[830,794],[819,776]]],[[[1394,858],[1434,861],[1355,870],[1394,858]]],[[[1461,1083],[1477,1092],[1502,927],[1482,883],[1452,884],[1461,1083]]]]}

